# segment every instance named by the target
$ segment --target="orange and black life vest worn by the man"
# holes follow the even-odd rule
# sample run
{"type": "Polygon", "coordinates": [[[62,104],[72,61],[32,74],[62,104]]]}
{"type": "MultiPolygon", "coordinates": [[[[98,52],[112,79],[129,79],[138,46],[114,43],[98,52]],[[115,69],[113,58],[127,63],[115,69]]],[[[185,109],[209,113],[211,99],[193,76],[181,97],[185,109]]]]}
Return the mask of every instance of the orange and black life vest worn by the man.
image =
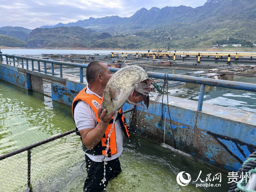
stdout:
{"type": "MultiPolygon", "coordinates": [[[[93,111],[96,115],[97,124],[98,124],[100,119],[97,115],[97,112],[98,112],[99,104],[102,103],[102,100],[99,99],[99,97],[97,97],[96,95],[86,93],[85,92],[86,88],[87,87],[82,89],[73,100],[73,103],[72,103],[73,119],[74,119],[75,107],[76,107],[77,103],[82,100],[82,101],[86,102],[93,109],[93,111]]],[[[115,121],[120,121],[121,129],[124,132],[124,135],[127,138],[129,138],[129,132],[128,132],[128,129],[126,126],[126,121],[125,121],[122,109],[118,112],[118,115],[117,115],[117,118],[115,121]]],[[[86,153],[92,154],[92,155],[105,155],[106,148],[107,148],[107,136],[110,132],[112,124],[113,124],[113,117],[112,117],[112,120],[110,121],[109,125],[107,126],[107,129],[106,129],[105,134],[103,135],[101,141],[93,149],[87,149],[86,146],[84,145],[84,143],[82,142],[83,150],[86,151],[86,153]]],[[[77,128],[76,128],[76,134],[79,135],[81,138],[81,135],[77,128]]],[[[82,140],[82,138],[81,138],[81,140],[82,140]]],[[[108,157],[111,157],[111,155],[114,155],[116,153],[117,153],[117,146],[116,146],[116,140],[115,140],[115,126],[114,126],[113,132],[110,135],[109,149],[108,149],[107,154],[108,154],[108,157]]]]}

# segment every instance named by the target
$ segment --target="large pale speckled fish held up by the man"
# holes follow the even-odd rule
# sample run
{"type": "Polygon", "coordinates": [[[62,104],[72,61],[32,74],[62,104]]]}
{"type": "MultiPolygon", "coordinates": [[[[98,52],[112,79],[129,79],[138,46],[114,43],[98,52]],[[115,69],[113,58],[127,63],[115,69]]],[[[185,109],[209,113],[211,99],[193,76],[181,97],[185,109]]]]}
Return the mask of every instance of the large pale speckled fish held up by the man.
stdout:
{"type": "Polygon", "coordinates": [[[103,91],[102,109],[106,109],[106,115],[110,115],[112,111],[118,111],[125,102],[136,104],[128,100],[133,92],[133,97],[142,96],[142,100],[146,107],[149,106],[149,91],[146,83],[143,81],[154,82],[149,79],[146,71],[136,65],[127,66],[124,60],[121,69],[115,72],[109,79],[106,88],[103,91]]]}

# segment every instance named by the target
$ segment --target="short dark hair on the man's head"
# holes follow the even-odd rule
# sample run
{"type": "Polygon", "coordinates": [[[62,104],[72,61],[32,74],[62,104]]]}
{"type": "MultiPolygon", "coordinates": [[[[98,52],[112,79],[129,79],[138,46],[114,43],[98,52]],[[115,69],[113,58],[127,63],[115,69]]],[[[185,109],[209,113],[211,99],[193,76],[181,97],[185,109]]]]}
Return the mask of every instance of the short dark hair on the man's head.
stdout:
{"type": "Polygon", "coordinates": [[[89,63],[88,67],[86,68],[86,80],[88,83],[93,82],[96,80],[98,74],[104,73],[104,68],[101,61],[93,61],[89,63]]]}

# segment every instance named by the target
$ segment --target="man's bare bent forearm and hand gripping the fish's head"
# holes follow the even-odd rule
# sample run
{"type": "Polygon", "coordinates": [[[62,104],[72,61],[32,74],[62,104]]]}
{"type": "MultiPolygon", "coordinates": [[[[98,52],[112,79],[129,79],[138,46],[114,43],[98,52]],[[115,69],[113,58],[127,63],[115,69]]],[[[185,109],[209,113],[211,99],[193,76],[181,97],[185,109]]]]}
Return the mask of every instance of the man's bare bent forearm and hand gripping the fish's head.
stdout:
{"type": "Polygon", "coordinates": [[[106,110],[104,109],[102,112],[101,110],[102,106],[100,106],[98,109],[98,117],[100,121],[95,128],[82,129],[79,131],[82,137],[82,141],[87,149],[93,149],[100,142],[107,129],[109,121],[115,114],[115,112],[113,111],[110,115],[105,116],[106,110]]]}

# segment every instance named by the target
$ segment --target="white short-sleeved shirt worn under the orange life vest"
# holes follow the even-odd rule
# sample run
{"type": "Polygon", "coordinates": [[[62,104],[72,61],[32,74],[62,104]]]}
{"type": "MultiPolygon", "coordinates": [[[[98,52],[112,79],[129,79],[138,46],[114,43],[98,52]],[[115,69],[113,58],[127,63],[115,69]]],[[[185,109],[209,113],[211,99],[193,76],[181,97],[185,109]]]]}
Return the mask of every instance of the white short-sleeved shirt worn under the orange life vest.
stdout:
{"type": "MultiPolygon", "coordinates": [[[[86,89],[86,93],[96,95],[97,97],[99,97],[99,99],[102,99],[102,97],[92,92],[88,86],[86,89]]],[[[82,129],[94,128],[97,124],[97,118],[93,109],[84,101],[79,101],[77,103],[74,110],[74,120],[79,131],[82,129]]],[[[115,139],[117,145],[117,153],[111,155],[111,157],[106,157],[106,161],[110,161],[119,157],[123,151],[123,133],[119,121],[115,121],[115,139]]],[[[104,155],[92,155],[88,153],[86,153],[86,155],[95,162],[102,162],[102,159],[104,158],[104,155]]]]}

